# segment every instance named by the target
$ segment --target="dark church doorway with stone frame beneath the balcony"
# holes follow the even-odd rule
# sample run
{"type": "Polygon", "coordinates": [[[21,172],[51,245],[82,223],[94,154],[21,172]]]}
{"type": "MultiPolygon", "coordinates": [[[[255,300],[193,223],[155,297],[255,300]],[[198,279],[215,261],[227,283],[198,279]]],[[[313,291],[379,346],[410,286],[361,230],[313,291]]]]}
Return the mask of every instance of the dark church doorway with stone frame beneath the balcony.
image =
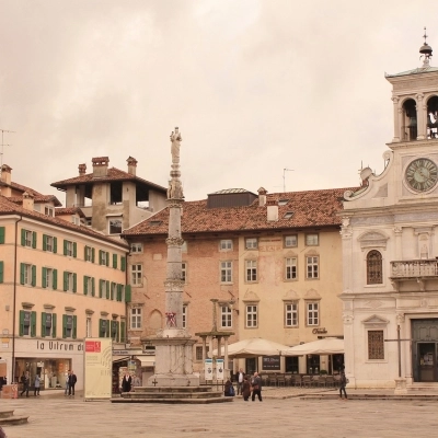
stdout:
{"type": "Polygon", "coordinates": [[[438,319],[412,320],[414,382],[438,382],[438,319]]]}

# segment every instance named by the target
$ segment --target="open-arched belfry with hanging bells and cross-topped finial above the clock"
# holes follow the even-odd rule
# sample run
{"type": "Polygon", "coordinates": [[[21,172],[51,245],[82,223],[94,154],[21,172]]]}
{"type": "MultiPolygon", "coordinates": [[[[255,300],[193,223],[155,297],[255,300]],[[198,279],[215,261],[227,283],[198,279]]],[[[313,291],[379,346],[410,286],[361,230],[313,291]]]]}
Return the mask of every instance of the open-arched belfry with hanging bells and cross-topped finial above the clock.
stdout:
{"type": "Polygon", "coordinates": [[[438,140],[438,68],[430,66],[433,49],[419,48],[422,66],[396,74],[387,74],[392,84],[394,137],[392,143],[438,140]]]}

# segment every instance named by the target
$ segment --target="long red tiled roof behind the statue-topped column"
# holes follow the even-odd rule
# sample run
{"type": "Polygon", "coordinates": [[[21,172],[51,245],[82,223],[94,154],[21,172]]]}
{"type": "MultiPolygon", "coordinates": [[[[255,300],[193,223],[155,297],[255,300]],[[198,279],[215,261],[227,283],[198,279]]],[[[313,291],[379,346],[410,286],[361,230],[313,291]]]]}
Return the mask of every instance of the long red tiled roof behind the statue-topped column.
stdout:
{"type": "MultiPolygon", "coordinates": [[[[278,221],[267,220],[267,207],[260,207],[258,198],[247,207],[207,208],[207,199],[187,201],[183,204],[182,232],[204,233],[339,226],[341,218],[336,212],[343,209],[342,199],[347,189],[351,188],[267,195],[267,201],[288,199],[286,205],[278,206],[278,221]],[[285,218],[287,212],[292,212],[290,219],[285,218]]],[[[166,234],[168,227],[169,208],[165,208],[125,230],[123,235],[166,234]]]]}

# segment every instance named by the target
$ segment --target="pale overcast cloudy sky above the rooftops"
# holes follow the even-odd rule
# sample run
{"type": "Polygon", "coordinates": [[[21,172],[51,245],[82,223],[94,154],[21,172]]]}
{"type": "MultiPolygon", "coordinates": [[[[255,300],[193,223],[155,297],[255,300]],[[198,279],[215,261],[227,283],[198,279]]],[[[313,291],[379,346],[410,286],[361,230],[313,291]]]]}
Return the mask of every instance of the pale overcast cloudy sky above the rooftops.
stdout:
{"type": "MultiPolygon", "coordinates": [[[[0,0],[1,162],[50,183],[93,157],[186,200],[351,187],[393,137],[384,72],[420,66],[429,0],[0,0]]],[[[438,51],[437,51],[438,56],[438,51]]],[[[438,65],[438,61],[431,65],[438,65]]]]}

